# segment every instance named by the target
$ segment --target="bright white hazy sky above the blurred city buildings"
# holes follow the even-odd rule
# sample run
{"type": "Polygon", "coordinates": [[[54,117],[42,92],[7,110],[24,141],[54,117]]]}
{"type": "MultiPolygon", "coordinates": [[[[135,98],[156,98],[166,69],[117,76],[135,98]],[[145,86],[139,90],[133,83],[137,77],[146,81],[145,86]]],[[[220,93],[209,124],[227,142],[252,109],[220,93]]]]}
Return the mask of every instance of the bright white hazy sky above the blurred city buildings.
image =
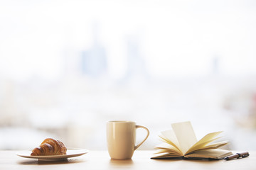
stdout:
{"type": "Polygon", "coordinates": [[[95,43],[115,79],[132,45],[153,77],[207,76],[216,61],[219,74],[256,74],[253,1],[161,2],[1,1],[1,77],[55,79],[95,43]]]}

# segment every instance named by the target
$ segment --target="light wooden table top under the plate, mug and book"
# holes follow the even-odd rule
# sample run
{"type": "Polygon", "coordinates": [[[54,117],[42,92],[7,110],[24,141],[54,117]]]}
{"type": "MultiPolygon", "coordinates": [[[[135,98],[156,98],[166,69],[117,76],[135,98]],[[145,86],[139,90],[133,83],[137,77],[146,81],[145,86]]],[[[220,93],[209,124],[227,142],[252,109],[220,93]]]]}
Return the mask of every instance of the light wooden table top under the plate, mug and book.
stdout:
{"type": "Polygon", "coordinates": [[[110,159],[107,151],[90,151],[80,157],[63,162],[38,162],[37,159],[18,157],[18,151],[0,151],[0,169],[256,169],[256,152],[250,156],[230,161],[150,159],[155,152],[135,151],[132,159],[110,159]]]}

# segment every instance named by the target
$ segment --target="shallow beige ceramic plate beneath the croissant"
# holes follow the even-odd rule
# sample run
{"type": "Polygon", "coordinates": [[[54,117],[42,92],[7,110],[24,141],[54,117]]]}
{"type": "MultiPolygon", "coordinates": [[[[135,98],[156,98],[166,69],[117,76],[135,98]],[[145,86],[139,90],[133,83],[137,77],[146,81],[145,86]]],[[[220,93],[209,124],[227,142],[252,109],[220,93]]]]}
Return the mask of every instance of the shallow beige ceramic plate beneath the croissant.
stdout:
{"type": "Polygon", "coordinates": [[[38,161],[61,161],[70,157],[78,157],[86,153],[88,153],[87,149],[68,148],[67,154],[65,155],[31,156],[31,150],[17,152],[16,154],[19,157],[38,159],[38,161]]]}

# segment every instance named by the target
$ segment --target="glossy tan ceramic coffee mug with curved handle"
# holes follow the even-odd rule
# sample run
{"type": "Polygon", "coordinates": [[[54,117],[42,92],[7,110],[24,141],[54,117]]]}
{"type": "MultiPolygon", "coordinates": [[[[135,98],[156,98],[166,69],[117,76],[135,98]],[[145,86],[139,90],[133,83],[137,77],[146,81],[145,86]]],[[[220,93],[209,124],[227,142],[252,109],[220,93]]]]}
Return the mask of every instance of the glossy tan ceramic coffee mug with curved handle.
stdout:
{"type": "Polygon", "coordinates": [[[149,130],[132,121],[109,121],[107,122],[107,149],[112,159],[131,159],[134,153],[146,138],[149,130]],[[135,146],[136,130],[144,128],[147,132],[145,139],[135,146]]]}

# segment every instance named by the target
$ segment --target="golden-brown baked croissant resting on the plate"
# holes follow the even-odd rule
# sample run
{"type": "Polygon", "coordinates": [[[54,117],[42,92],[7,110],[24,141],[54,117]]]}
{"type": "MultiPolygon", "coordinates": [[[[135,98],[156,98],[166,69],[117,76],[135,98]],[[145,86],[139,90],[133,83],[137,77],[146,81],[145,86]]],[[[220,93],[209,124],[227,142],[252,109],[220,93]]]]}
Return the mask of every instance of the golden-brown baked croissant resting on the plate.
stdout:
{"type": "Polygon", "coordinates": [[[46,140],[43,140],[39,147],[32,150],[31,156],[63,155],[66,154],[66,152],[67,148],[63,142],[47,138],[46,140]]]}

